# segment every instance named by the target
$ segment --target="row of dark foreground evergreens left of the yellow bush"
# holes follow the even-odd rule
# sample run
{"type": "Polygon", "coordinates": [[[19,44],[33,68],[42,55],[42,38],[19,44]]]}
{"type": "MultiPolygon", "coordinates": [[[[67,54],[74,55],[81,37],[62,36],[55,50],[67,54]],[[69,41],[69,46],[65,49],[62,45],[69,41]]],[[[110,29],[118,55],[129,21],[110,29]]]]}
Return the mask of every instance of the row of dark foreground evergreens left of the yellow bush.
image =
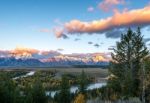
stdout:
{"type": "MultiPolygon", "coordinates": [[[[8,73],[9,74],[9,73],[8,73]]],[[[8,76],[7,73],[0,75],[0,103],[71,103],[77,93],[70,93],[69,78],[65,74],[62,76],[60,91],[54,98],[46,94],[39,75],[31,84],[27,84],[24,89],[20,89],[16,81],[8,76]]],[[[85,93],[87,76],[82,71],[79,81],[79,92],[85,93]]]]}

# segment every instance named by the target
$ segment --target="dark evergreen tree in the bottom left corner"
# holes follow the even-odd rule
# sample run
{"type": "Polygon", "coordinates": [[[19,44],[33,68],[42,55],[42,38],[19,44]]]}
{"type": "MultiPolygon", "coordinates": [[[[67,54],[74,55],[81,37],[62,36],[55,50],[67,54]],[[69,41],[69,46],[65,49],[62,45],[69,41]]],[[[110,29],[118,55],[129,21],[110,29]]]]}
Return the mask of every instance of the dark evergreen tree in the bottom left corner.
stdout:
{"type": "Polygon", "coordinates": [[[0,75],[0,103],[19,103],[21,96],[18,87],[7,74],[0,75]]]}

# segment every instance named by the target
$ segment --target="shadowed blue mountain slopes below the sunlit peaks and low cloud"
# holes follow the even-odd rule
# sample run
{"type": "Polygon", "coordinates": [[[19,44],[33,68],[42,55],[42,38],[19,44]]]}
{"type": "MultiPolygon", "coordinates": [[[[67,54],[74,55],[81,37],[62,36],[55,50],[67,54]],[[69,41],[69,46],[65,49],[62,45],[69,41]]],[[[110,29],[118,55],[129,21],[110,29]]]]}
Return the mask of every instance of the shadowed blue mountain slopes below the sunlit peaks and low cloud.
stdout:
{"type": "Polygon", "coordinates": [[[33,67],[88,67],[88,66],[107,66],[109,62],[105,61],[78,61],[78,60],[55,60],[49,61],[49,62],[42,62],[38,59],[34,58],[14,58],[14,57],[7,57],[7,58],[0,58],[0,66],[12,66],[12,67],[17,67],[17,66],[33,66],[33,67]]]}

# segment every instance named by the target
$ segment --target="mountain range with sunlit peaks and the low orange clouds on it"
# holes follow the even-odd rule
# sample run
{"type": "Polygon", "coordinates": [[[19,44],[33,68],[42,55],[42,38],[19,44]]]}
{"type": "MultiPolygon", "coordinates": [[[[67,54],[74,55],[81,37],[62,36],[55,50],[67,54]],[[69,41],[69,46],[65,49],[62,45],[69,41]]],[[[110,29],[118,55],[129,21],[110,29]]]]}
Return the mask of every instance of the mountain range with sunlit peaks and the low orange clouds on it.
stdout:
{"type": "Polygon", "coordinates": [[[23,47],[0,51],[0,66],[107,65],[109,60],[109,53],[62,54],[53,50],[40,51],[23,47]]]}

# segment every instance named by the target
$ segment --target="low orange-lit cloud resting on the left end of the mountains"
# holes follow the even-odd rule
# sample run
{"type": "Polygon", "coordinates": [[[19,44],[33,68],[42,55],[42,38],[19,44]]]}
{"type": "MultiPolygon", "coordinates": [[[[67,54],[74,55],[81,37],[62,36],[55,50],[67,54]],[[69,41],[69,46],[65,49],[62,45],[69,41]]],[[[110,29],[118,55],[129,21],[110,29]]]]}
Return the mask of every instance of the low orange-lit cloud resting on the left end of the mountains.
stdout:
{"type": "Polygon", "coordinates": [[[58,56],[58,51],[40,51],[32,48],[16,47],[14,50],[0,50],[0,57],[16,57],[16,58],[35,58],[43,59],[58,56]]]}

